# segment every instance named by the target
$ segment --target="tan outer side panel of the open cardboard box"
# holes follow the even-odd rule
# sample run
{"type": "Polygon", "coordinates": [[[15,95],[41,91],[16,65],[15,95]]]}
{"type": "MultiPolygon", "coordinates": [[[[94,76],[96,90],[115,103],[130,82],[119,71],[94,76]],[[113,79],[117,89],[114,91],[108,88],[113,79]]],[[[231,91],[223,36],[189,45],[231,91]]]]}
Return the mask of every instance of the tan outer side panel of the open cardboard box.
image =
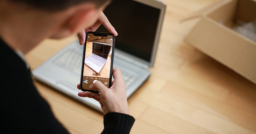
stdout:
{"type": "Polygon", "coordinates": [[[256,43],[203,17],[185,42],[256,83],[256,43]]]}

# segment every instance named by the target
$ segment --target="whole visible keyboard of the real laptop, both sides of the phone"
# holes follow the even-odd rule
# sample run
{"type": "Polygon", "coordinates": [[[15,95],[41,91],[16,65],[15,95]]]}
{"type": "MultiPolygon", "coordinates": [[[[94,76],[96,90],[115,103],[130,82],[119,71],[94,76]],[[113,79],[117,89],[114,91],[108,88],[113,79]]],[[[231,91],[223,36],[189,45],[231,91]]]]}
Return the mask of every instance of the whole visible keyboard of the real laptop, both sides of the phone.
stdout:
{"type": "MultiPolygon", "coordinates": [[[[82,67],[81,55],[82,55],[81,53],[70,49],[66,52],[63,52],[63,55],[53,60],[53,64],[69,72],[75,72],[80,75],[81,67],[82,67]]],[[[129,87],[136,80],[137,77],[134,75],[131,75],[131,73],[127,73],[125,69],[121,69],[121,68],[119,69],[121,70],[122,78],[126,84],[126,87],[129,87]]],[[[112,80],[114,80],[113,77],[112,77],[112,80]]]]}

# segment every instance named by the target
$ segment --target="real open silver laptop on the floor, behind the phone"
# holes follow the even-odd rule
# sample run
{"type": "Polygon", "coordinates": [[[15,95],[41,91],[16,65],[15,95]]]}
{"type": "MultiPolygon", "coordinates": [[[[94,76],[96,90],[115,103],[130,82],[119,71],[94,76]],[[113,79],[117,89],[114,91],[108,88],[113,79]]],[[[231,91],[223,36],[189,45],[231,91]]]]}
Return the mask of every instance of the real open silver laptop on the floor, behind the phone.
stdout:
{"type": "MultiPolygon", "coordinates": [[[[113,67],[119,68],[129,98],[150,76],[153,67],[165,4],[158,0],[113,1],[104,14],[118,32],[115,38],[113,67]]],[[[108,32],[100,26],[97,32],[108,32]]],[[[83,46],[73,41],[32,71],[35,79],[101,111],[91,98],[77,95],[80,83],[83,46]]]]}

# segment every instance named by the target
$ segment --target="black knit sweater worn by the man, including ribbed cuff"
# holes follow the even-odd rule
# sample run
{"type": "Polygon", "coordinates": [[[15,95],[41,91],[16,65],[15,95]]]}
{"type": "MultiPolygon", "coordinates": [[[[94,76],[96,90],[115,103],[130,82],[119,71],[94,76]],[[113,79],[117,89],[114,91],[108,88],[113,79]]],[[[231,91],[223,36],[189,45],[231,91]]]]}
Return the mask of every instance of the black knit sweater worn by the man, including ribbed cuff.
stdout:
{"type": "MultiPolygon", "coordinates": [[[[1,39],[0,56],[1,133],[68,133],[38,94],[26,63],[1,39]]],[[[102,133],[130,133],[134,121],[130,115],[107,113],[102,133]]]]}

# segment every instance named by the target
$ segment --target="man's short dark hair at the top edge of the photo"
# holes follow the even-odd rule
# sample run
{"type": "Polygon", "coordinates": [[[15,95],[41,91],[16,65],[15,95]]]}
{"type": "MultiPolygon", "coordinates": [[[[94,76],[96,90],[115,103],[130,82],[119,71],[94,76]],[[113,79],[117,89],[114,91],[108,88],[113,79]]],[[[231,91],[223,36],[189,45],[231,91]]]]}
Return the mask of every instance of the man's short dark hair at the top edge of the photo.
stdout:
{"type": "Polygon", "coordinates": [[[109,0],[9,0],[27,5],[34,9],[46,11],[59,11],[81,3],[93,3],[98,8],[109,0]]]}

